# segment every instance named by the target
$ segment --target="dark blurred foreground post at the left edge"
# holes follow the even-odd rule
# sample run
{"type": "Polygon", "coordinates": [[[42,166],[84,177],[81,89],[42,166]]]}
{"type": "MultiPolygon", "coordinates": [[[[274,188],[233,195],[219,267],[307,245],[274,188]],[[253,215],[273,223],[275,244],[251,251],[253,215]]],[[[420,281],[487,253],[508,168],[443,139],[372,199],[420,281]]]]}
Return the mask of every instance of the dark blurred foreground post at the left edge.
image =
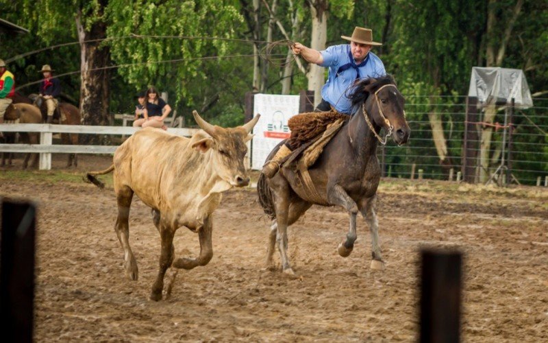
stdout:
{"type": "Polygon", "coordinates": [[[0,332],[3,342],[32,342],[36,206],[1,203],[0,332]]]}

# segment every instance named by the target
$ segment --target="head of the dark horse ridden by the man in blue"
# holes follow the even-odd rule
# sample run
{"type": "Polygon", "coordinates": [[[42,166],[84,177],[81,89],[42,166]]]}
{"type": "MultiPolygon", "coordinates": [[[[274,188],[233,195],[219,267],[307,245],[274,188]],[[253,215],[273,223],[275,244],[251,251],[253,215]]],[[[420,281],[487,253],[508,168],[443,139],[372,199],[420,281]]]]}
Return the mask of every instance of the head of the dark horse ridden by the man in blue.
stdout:
{"type": "MultiPolygon", "coordinates": [[[[363,110],[364,115],[369,113],[370,117],[366,117],[366,120],[371,119],[375,126],[384,128],[397,145],[407,143],[411,130],[403,110],[405,99],[399,93],[392,76],[369,78],[359,82],[351,100],[354,105],[361,103],[358,113],[363,110]]],[[[381,139],[379,141],[386,143],[381,139]]]]}

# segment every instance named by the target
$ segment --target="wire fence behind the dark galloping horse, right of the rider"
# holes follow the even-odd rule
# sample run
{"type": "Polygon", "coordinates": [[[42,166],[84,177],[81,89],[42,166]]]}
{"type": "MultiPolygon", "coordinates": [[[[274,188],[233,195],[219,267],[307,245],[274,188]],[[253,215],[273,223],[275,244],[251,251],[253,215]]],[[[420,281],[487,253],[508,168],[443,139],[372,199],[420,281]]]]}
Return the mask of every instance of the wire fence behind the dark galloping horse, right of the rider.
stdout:
{"type": "Polygon", "coordinates": [[[476,156],[473,161],[474,182],[486,182],[486,178],[503,170],[504,174],[511,177],[508,180],[512,182],[547,186],[548,98],[534,98],[532,108],[514,108],[512,123],[507,123],[506,126],[503,124],[506,114],[504,108],[497,110],[493,125],[484,122],[484,112],[480,110],[479,120],[472,123],[476,132],[471,137],[475,138],[471,139],[469,135],[466,149],[464,136],[466,130],[470,130],[470,126],[466,127],[466,97],[436,97],[436,103],[429,102],[430,98],[406,96],[406,115],[411,128],[410,141],[401,147],[393,142],[379,147],[378,156],[384,176],[418,178],[420,173],[422,178],[456,180],[458,172],[464,172],[465,152],[472,152],[476,156]],[[443,143],[438,143],[437,149],[432,135],[433,118],[439,120],[443,128],[443,143]],[[489,148],[483,149],[485,142],[482,145],[482,132],[486,129],[491,130],[492,135],[489,148]],[[438,150],[445,151],[443,161],[438,150]],[[479,167],[482,150],[488,152],[489,163],[486,168],[479,167]]]}

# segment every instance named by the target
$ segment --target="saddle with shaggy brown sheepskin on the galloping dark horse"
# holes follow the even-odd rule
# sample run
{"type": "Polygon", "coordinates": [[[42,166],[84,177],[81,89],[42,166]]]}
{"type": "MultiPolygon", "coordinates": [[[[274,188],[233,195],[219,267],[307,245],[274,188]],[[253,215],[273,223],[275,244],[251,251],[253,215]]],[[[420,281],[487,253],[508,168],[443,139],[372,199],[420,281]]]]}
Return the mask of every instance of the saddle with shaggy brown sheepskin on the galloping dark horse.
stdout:
{"type": "MultiPolygon", "coordinates": [[[[291,129],[290,145],[297,148],[282,160],[280,165],[284,169],[291,169],[299,176],[299,186],[302,186],[302,191],[307,198],[318,204],[325,204],[325,200],[319,195],[308,168],[318,160],[323,152],[323,148],[341,127],[349,120],[348,115],[343,115],[336,112],[326,113],[306,113],[292,117],[288,126],[291,129]],[[303,116],[306,115],[306,116],[303,116]],[[303,116],[303,117],[301,117],[303,116]],[[299,125],[295,125],[292,119],[297,118],[299,125]],[[308,118],[307,118],[308,117],[308,118]],[[304,130],[302,130],[304,128],[304,130]],[[305,141],[308,139],[308,141],[305,141]]],[[[298,190],[295,190],[298,191],[298,190]]]]}

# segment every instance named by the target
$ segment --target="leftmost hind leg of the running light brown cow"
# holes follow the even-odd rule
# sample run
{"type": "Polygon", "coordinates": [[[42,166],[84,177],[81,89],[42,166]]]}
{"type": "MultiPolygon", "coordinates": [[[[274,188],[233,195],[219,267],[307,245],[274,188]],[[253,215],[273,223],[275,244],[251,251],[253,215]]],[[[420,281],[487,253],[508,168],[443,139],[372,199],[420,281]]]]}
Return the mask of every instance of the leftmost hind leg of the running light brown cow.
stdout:
{"type": "Polygon", "coordinates": [[[129,206],[132,205],[133,193],[133,190],[127,186],[116,191],[118,217],[116,218],[114,230],[116,230],[116,236],[118,236],[118,240],[124,249],[125,275],[130,280],[137,280],[139,277],[137,261],[132,248],[129,246],[129,206]]]}

